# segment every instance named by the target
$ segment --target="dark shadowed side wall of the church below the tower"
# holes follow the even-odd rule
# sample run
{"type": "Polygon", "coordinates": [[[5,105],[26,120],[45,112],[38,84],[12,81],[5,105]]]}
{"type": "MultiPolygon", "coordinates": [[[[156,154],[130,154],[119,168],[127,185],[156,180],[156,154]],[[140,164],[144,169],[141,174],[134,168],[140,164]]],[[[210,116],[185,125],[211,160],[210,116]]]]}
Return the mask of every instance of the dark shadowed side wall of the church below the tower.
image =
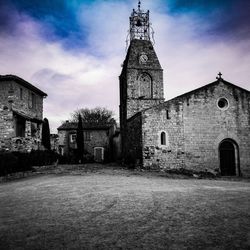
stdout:
{"type": "Polygon", "coordinates": [[[125,160],[127,163],[142,163],[142,122],[141,113],[127,122],[127,138],[125,143],[125,160]]]}

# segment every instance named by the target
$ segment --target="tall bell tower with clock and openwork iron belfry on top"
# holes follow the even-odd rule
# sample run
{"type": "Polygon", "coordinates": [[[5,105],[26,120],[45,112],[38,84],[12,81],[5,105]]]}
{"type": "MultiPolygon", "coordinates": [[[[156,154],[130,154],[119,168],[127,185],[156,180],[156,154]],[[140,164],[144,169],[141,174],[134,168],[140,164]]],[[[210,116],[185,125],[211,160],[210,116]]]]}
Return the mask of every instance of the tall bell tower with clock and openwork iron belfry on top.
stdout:
{"type": "Polygon", "coordinates": [[[136,113],[164,102],[163,70],[152,44],[149,11],[132,11],[129,18],[130,44],[120,75],[120,126],[122,151],[127,138],[127,122],[136,113]]]}

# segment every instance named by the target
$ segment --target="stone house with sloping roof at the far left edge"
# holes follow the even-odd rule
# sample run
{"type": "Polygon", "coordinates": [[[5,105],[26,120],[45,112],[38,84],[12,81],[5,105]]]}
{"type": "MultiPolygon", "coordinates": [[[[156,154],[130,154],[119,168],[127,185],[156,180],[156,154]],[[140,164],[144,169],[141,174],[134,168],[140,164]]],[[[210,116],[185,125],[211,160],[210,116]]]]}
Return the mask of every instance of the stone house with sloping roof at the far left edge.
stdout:
{"type": "Polygon", "coordinates": [[[41,145],[46,93],[14,75],[0,75],[0,149],[30,151],[41,145]]]}

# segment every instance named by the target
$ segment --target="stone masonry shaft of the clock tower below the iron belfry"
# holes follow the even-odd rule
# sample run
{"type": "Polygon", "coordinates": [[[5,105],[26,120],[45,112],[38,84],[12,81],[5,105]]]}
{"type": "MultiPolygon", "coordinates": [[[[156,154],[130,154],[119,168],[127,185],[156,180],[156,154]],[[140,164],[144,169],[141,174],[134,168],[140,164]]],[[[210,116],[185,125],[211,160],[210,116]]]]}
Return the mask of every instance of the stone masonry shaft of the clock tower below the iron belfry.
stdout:
{"type": "Polygon", "coordinates": [[[126,134],[127,120],[136,113],[162,102],[164,102],[163,70],[153,45],[146,40],[132,40],[120,75],[120,124],[123,156],[126,154],[126,140],[130,136],[126,134]],[[144,63],[140,61],[142,54],[146,54],[148,58],[144,63]],[[147,79],[145,79],[145,75],[147,79]],[[148,86],[149,84],[151,88],[148,86]]]}

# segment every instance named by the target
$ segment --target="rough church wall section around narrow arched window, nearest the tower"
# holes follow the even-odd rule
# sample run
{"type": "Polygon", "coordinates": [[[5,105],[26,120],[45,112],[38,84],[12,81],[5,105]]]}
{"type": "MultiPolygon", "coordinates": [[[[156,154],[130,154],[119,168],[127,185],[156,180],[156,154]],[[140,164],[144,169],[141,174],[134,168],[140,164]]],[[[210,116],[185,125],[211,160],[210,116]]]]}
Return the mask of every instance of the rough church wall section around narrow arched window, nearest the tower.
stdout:
{"type": "Polygon", "coordinates": [[[182,104],[164,103],[142,115],[143,166],[171,169],[184,167],[182,104]],[[161,133],[166,143],[161,144],[161,133]]]}

